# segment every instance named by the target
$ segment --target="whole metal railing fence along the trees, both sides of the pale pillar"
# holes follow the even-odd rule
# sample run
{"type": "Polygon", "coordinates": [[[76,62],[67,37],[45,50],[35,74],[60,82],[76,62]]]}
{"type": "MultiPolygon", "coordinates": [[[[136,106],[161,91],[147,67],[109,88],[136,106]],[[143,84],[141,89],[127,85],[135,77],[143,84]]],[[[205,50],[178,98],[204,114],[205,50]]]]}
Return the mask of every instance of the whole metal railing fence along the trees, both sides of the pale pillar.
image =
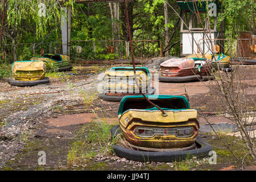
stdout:
{"type": "MultiPolygon", "coordinates": [[[[162,55],[159,40],[133,40],[135,59],[150,59],[162,55]]],[[[30,60],[43,53],[61,53],[61,42],[22,43],[0,46],[0,63],[30,60]]],[[[131,59],[130,44],[124,40],[72,40],[71,60],[131,59]]]]}

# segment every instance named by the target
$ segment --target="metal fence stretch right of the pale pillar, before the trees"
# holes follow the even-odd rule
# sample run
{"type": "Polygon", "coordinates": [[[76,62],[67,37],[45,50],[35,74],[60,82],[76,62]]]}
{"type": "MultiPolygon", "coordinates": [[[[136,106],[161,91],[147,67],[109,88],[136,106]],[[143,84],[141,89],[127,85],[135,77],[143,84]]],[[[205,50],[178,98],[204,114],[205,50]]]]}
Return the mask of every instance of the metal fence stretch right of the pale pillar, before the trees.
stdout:
{"type": "MultiPolygon", "coordinates": [[[[159,40],[133,40],[135,59],[150,59],[161,55],[159,40]]],[[[71,57],[85,59],[131,59],[130,44],[124,40],[73,40],[71,57]]]]}

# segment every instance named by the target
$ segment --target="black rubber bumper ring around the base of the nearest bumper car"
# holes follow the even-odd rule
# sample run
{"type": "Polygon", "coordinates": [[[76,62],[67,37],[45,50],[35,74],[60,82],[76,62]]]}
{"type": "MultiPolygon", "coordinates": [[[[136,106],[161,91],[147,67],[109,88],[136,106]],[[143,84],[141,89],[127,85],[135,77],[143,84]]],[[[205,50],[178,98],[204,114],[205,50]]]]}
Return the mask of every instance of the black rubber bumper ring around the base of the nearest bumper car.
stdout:
{"type": "MultiPolygon", "coordinates": [[[[112,128],[112,138],[121,133],[119,125],[112,128]]],[[[118,145],[113,145],[113,151],[120,158],[126,158],[129,160],[135,160],[139,162],[172,162],[174,160],[184,160],[188,156],[196,156],[197,158],[203,158],[209,156],[209,152],[212,151],[212,147],[206,143],[203,139],[197,137],[196,144],[200,148],[183,151],[168,151],[168,152],[151,152],[151,151],[139,151],[125,148],[118,145]]]]}

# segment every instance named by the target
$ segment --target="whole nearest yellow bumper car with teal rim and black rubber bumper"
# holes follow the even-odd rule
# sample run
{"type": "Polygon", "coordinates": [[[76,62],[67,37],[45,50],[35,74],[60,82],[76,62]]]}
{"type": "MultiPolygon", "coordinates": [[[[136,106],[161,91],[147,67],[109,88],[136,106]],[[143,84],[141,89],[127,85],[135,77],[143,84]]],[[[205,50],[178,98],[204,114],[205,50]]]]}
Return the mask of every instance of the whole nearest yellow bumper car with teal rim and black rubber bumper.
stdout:
{"type": "Polygon", "coordinates": [[[190,109],[184,96],[146,96],[166,112],[151,106],[143,96],[123,97],[119,110],[119,125],[111,130],[112,138],[123,133],[130,148],[114,145],[116,155],[142,162],[167,162],[204,157],[212,147],[199,133],[199,114],[190,109]]]}

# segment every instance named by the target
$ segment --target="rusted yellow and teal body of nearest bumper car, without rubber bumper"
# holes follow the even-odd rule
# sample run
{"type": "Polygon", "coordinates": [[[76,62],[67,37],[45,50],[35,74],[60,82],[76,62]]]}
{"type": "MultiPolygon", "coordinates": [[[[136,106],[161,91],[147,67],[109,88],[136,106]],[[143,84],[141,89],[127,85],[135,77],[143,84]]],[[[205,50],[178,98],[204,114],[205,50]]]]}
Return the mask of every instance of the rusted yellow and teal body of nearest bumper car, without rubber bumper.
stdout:
{"type": "Polygon", "coordinates": [[[135,148],[148,151],[188,150],[193,147],[199,132],[199,114],[189,109],[183,96],[147,96],[166,112],[148,104],[142,96],[128,96],[118,110],[119,125],[125,138],[135,148]],[[142,131],[144,131],[144,134],[142,131]],[[183,129],[189,134],[180,135],[183,129]],[[162,149],[162,150],[160,150],[162,149]]]}

